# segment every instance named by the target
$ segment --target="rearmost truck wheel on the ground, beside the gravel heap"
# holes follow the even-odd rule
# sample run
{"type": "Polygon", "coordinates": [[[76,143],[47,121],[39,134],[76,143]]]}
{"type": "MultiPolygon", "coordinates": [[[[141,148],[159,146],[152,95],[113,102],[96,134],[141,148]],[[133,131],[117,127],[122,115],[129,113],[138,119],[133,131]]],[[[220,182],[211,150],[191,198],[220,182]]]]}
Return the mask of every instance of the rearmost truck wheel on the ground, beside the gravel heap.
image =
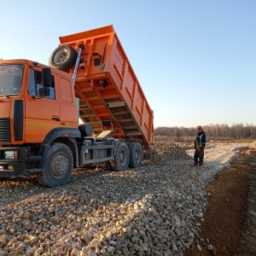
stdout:
{"type": "Polygon", "coordinates": [[[140,143],[129,144],[130,161],[129,166],[131,168],[138,168],[143,164],[143,147],[140,143]]]}

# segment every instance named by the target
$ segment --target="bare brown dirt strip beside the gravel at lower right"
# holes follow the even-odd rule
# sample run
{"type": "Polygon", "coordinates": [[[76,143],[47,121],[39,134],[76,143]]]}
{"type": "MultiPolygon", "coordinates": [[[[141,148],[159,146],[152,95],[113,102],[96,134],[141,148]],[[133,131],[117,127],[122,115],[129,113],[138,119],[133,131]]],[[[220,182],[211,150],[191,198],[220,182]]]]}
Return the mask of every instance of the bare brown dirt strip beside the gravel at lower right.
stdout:
{"type": "Polygon", "coordinates": [[[184,256],[256,255],[256,149],[241,148],[207,192],[201,232],[184,256]]]}

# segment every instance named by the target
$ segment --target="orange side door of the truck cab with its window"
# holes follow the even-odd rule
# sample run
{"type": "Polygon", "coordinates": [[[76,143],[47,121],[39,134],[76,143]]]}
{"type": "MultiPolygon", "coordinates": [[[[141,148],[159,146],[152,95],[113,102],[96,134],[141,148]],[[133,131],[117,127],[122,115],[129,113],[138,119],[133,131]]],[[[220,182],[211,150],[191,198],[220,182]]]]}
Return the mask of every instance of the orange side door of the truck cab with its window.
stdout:
{"type": "Polygon", "coordinates": [[[60,126],[60,105],[56,96],[55,77],[49,88],[49,96],[39,96],[43,88],[42,74],[39,70],[30,70],[26,92],[25,107],[25,143],[42,143],[49,131],[60,126]]]}

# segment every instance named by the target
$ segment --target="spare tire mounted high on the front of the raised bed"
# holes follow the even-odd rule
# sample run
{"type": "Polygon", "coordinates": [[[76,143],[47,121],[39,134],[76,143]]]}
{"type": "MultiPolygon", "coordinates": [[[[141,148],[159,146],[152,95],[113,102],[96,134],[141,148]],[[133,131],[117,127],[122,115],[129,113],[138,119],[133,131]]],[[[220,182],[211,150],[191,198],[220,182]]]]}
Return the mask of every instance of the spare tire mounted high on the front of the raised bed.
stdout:
{"type": "Polygon", "coordinates": [[[55,67],[62,71],[71,69],[77,61],[77,52],[70,45],[61,45],[49,56],[49,67],[55,67]]]}

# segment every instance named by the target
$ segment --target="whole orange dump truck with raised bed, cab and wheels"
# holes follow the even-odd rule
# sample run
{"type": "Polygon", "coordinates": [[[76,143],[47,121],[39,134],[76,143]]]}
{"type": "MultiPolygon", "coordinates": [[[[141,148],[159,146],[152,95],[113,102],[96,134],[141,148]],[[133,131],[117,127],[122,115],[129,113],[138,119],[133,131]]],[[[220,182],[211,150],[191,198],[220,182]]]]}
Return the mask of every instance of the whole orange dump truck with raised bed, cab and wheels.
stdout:
{"type": "Polygon", "coordinates": [[[0,177],[37,173],[55,187],[79,166],[141,166],[153,111],[113,26],[60,41],[49,67],[0,61],[0,177]]]}

